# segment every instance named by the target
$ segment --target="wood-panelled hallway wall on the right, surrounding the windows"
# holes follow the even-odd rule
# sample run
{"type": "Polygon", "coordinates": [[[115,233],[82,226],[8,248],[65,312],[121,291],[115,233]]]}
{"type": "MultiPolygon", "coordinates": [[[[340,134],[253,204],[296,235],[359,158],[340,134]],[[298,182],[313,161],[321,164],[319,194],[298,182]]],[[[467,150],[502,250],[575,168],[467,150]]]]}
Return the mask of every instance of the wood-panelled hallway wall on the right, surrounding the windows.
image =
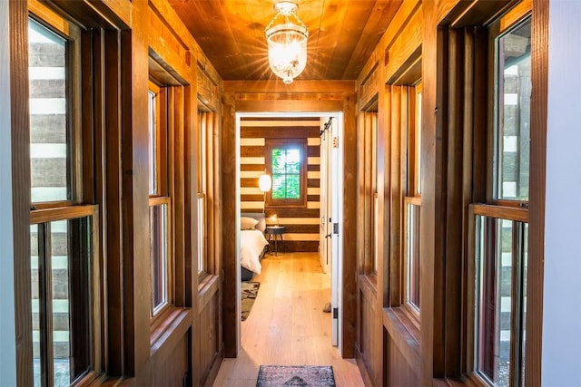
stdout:
{"type": "MultiPolygon", "coordinates": [[[[487,52],[489,41],[486,32],[483,34],[486,28],[475,26],[486,25],[501,15],[507,15],[506,23],[514,22],[534,6],[528,1],[404,2],[359,74],[360,153],[370,150],[365,114],[376,111],[376,107],[379,125],[379,261],[375,272],[370,270],[369,256],[373,251],[365,233],[358,235],[357,250],[356,354],[359,369],[369,384],[465,385],[458,381],[472,372],[470,308],[474,305],[467,299],[473,279],[464,271],[472,259],[466,247],[467,212],[471,201],[486,199],[482,191],[486,183],[476,171],[487,168],[483,164],[487,151],[484,122],[490,89],[487,68],[491,65],[487,52]],[[403,129],[409,120],[409,111],[405,109],[405,89],[399,85],[411,85],[419,80],[422,89],[421,285],[420,308],[416,314],[410,313],[405,305],[402,285],[405,272],[402,208],[406,196],[403,129]]],[[[541,59],[539,66],[543,65],[541,59]]],[[[537,71],[543,73],[541,68],[537,67],[537,71]]],[[[539,75],[537,80],[543,81],[543,77],[539,75]]],[[[542,87],[541,82],[540,90],[542,87]]],[[[537,107],[544,109],[542,102],[537,107]]],[[[542,151],[536,155],[531,153],[531,158],[542,160],[542,156],[542,151]]],[[[358,159],[365,163],[359,166],[358,175],[359,229],[365,230],[373,224],[369,200],[374,187],[369,179],[369,161],[364,154],[359,154],[358,159]]],[[[535,195],[542,195],[542,189],[531,193],[531,202],[535,195]]],[[[537,265],[538,261],[533,262],[537,265]]],[[[528,292],[537,296],[538,286],[542,288],[535,285],[528,287],[528,292]]],[[[527,315],[531,314],[528,322],[537,330],[542,306],[533,305],[534,311],[530,306],[528,303],[527,315]]],[[[527,360],[527,383],[539,380],[537,344],[536,338],[529,339],[527,325],[527,359],[530,360],[530,363],[527,360]],[[529,340],[535,347],[529,347],[529,340]]]]}

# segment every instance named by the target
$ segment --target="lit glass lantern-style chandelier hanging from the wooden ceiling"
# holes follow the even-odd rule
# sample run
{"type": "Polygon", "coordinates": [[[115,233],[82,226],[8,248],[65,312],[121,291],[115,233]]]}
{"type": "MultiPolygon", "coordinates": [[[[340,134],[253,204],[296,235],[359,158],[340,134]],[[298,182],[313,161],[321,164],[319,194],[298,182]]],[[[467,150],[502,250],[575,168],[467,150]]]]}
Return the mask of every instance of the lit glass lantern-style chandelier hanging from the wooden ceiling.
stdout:
{"type": "Polygon", "coordinates": [[[307,37],[309,30],[297,15],[298,5],[281,1],[264,33],[269,45],[269,64],[272,73],[289,84],[299,76],[307,64],[307,37]]]}

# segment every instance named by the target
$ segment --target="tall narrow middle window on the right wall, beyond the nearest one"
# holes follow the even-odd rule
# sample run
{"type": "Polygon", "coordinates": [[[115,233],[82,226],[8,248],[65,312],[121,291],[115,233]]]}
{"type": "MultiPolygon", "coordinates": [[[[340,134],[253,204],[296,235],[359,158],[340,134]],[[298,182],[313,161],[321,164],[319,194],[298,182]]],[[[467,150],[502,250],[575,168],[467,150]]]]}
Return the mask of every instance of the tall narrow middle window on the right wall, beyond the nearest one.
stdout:
{"type": "Polygon", "coordinates": [[[420,225],[420,135],[421,135],[421,84],[409,88],[409,124],[407,152],[404,155],[407,171],[404,206],[404,301],[414,313],[419,314],[419,225],[420,225]]]}

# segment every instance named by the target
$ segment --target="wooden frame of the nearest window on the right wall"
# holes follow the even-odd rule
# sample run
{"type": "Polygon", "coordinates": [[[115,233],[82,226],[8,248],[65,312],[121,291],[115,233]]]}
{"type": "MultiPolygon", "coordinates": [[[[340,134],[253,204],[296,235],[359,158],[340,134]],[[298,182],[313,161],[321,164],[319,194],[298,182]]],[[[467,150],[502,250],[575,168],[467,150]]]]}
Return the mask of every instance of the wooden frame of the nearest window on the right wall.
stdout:
{"type": "MultiPolygon", "coordinates": [[[[487,377],[483,376],[478,372],[478,364],[477,362],[477,354],[475,353],[477,349],[477,339],[478,333],[476,332],[476,324],[477,324],[477,313],[475,312],[475,308],[478,306],[477,295],[478,291],[476,286],[478,285],[477,280],[475,278],[477,269],[476,269],[476,254],[477,254],[477,243],[476,243],[476,231],[477,231],[477,217],[487,217],[487,218],[495,218],[500,220],[507,220],[513,222],[514,224],[528,224],[528,217],[529,217],[529,206],[528,200],[520,200],[520,199],[510,199],[510,198],[497,198],[497,184],[500,181],[500,177],[497,176],[497,172],[499,169],[497,168],[497,147],[499,146],[497,143],[498,134],[499,134],[499,127],[498,121],[501,120],[499,116],[500,109],[497,108],[497,103],[502,101],[499,98],[501,94],[500,85],[502,85],[502,78],[501,73],[499,73],[499,63],[497,60],[497,42],[503,36],[508,34],[511,30],[519,28],[522,24],[530,23],[531,26],[533,24],[530,15],[530,9],[523,8],[523,7],[516,7],[507,12],[507,14],[502,15],[501,17],[497,18],[492,24],[487,26],[487,54],[488,54],[488,63],[487,63],[487,126],[486,126],[486,151],[483,152],[484,158],[486,158],[486,179],[482,181],[486,185],[485,192],[486,196],[484,201],[481,203],[473,202],[468,206],[468,328],[467,328],[467,371],[468,377],[472,382],[475,382],[478,386],[490,386],[493,381],[489,381],[487,377]],[[490,84],[493,84],[493,87],[489,87],[490,84]]],[[[531,43],[533,37],[531,34],[531,43]]],[[[531,65],[533,65],[534,60],[532,58],[531,53],[531,65]]],[[[531,76],[531,82],[532,82],[531,76]]],[[[531,102],[532,108],[532,102],[531,102]]],[[[532,109],[531,109],[532,110],[532,109]]],[[[531,121],[532,121],[532,114],[531,114],[531,121]]],[[[532,125],[531,125],[532,126],[532,125]]],[[[531,127],[531,136],[532,136],[532,127],[531,127]]],[[[504,132],[503,132],[504,133],[504,132]]],[[[498,140],[501,143],[501,141],[498,140]]],[[[533,154],[533,150],[529,152],[529,160],[528,165],[531,165],[531,160],[536,155],[533,154]]],[[[537,155],[538,156],[538,155],[537,155]]],[[[475,160],[478,162],[478,160],[475,160]]],[[[529,167],[530,168],[530,167],[529,167]]],[[[478,188],[479,189],[479,188],[478,188]]],[[[531,179],[528,180],[528,191],[529,191],[529,199],[530,199],[530,192],[531,192],[531,179]]],[[[517,237],[523,237],[523,235],[518,234],[521,231],[517,232],[517,237]]],[[[515,231],[513,231],[513,234],[515,231]]],[[[524,233],[524,231],[523,231],[524,233]]],[[[528,238],[530,238],[532,234],[528,232],[528,238]]],[[[495,243],[498,243],[497,239],[494,239],[495,243]]],[[[527,373],[527,364],[529,360],[526,357],[526,352],[529,352],[528,343],[529,340],[527,338],[526,342],[522,342],[522,338],[524,337],[524,332],[527,330],[527,315],[524,314],[524,310],[527,304],[528,295],[522,293],[521,285],[523,281],[527,282],[527,273],[522,273],[523,265],[527,265],[528,267],[533,267],[531,265],[530,256],[527,251],[522,251],[523,241],[522,240],[513,240],[512,241],[512,251],[514,254],[524,254],[523,259],[527,259],[527,262],[523,262],[518,260],[518,256],[512,256],[512,277],[511,277],[511,295],[510,295],[510,305],[511,305],[511,321],[510,321],[510,350],[509,350],[509,374],[508,374],[508,384],[509,385],[521,385],[522,380],[520,378],[525,378],[527,373]],[[517,343],[518,341],[518,343],[517,343]],[[526,346],[526,347],[525,347],[526,346]],[[515,364],[519,363],[520,368],[519,371],[516,372],[515,364]],[[516,384],[517,383],[517,384],[516,384]]],[[[489,243],[492,245],[492,243],[489,243]]],[[[527,247],[524,247],[527,248],[527,247]]],[[[496,253],[495,253],[496,254],[496,253]]],[[[497,269],[498,270],[498,269],[497,269]]],[[[530,276],[530,275],[528,275],[530,276]]],[[[527,292],[529,292],[530,287],[527,286],[527,292]]],[[[498,305],[498,310],[495,309],[495,313],[500,312],[500,305],[498,305]]],[[[528,314],[528,318],[531,318],[533,313],[528,314]]],[[[529,333],[530,334],[530,333],[529,333]]],[[[527,334],[527,335],[529,335],[527,334]]]]}

